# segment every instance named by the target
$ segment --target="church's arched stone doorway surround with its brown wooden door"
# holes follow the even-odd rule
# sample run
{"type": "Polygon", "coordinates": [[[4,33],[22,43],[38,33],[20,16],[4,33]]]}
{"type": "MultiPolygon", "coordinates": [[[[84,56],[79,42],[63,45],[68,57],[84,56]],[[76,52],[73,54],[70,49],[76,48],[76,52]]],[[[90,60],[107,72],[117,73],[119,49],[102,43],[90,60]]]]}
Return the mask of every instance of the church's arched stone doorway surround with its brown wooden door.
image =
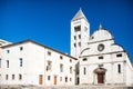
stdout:
{"type": "Polygon", "coordinates": [[[94,70],[94,73],[96,75],[98,83],[104,83],[104,80],[105,80],[105,71],[106,71],[106,69],[104,69],[104,68],[96,68],[96,69],[94,70]]]}

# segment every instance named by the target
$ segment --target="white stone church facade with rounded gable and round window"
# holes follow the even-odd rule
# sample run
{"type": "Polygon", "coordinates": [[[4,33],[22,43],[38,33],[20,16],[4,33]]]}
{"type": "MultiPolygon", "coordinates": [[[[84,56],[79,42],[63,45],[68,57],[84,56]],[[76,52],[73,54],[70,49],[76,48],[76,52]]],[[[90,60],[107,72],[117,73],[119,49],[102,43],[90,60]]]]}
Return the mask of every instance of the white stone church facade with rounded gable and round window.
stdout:
{"type": "Polygon", "coordinates": [[[126,51],[102,27],[80,57],[80,85],[133,85],[133,67],[126,51]]]}

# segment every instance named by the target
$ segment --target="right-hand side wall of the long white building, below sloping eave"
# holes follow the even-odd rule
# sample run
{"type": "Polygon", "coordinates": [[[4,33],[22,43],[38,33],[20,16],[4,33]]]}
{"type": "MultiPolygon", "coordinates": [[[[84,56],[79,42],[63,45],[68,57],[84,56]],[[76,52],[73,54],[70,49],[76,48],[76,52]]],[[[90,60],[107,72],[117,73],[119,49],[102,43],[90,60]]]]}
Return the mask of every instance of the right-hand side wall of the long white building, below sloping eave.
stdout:
{"type": "Polygon", "coordinates": [[[47,86],[55,86],[54,77],[57,77],[57,86],[73,86],[74,85],[74,69],[75,69],[75,60],[64,55],[57,53],[52,50],[45,49],[51,52],[51,55],[45,55],[47,60],[45,63],[48,66],[48,61],[51,61],[51,70],[47,70],[45,72],[45,85],[47,86]],[[63,66],[61,71],[60,66],[63,66]],[[72,71],[70,72],[70,68],[72,71]],[[48,79],[48,76],[50,79],[48,79]]]}

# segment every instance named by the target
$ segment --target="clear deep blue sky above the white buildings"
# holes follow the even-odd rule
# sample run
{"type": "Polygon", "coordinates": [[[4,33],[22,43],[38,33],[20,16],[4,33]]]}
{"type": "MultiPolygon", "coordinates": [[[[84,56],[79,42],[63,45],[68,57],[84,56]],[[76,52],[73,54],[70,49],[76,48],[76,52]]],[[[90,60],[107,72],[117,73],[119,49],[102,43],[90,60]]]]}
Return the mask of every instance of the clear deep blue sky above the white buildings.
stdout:
{"type": "Polygon", "coordinates": [[[133,61],[132,0],[0,0],[0,39],[35,40],[70,52],[70,21],[82,8],[91,34],[102,23],[133,61]]]}

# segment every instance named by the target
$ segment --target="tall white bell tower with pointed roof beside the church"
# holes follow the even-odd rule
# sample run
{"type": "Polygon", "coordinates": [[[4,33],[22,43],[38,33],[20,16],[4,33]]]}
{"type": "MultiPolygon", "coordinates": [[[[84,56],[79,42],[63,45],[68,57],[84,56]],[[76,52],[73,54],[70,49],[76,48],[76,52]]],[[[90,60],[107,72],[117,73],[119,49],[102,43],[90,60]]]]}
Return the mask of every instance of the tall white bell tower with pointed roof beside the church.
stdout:
{"type": "Polygon", "coordinates": [[[79,58],[81,51],[88,47],[90,23],[82,9],[71,20],[71,56],[79,58]]]}

